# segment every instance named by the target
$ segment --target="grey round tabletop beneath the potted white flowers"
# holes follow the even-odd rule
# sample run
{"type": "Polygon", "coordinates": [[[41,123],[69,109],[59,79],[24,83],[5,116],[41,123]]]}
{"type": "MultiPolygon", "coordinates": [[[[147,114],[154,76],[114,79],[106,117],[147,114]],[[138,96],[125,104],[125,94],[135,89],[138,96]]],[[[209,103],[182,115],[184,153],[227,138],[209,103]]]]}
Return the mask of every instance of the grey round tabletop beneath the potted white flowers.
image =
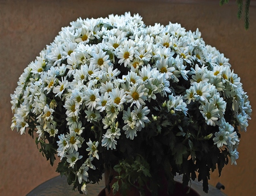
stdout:
{"type": "MultiPolygon", "coordinates": [[[[104,177],[102,178],[104,179],[104,177]]],[[[182,176],[176,176],[175,180],[181,182],[182,176]]],[[[97,196],[104,189],[104,181],[99,184],[88,184],[88,194],[86,196],[97,196]]],[[[209,192],[204,193],[202,182],[192,181],[192,189],[196,190],[201,196],[226,196],[221,190],[209,185],[209,192]]],[[[35,187],[27,196],[81,196],[78,191],[73,191],[72,186],[67,184],[67,177],[57,176],[35,187]]]]}

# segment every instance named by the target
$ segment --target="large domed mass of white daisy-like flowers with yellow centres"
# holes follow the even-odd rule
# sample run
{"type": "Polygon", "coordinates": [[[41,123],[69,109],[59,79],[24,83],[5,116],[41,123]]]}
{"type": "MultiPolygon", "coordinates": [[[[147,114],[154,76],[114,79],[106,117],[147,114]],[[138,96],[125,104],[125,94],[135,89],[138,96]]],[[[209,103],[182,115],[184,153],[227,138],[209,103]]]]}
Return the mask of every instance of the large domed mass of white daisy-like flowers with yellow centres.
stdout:
{"type": "Polygon", "coordinates": [[[84,193],[107,165],[120,169],[137,155],[147,162],[144,176],[164,164],[207,182],[216,164],[219,172],[228,157],[236,164],[238,127],[246,131],[251,115],[230,68],[199,30],[145,26],[130,13],[80,18],[24,69],[11,128],[35,131],[43,155],[53,164],[57,154],[57,170],[84,193]]]}

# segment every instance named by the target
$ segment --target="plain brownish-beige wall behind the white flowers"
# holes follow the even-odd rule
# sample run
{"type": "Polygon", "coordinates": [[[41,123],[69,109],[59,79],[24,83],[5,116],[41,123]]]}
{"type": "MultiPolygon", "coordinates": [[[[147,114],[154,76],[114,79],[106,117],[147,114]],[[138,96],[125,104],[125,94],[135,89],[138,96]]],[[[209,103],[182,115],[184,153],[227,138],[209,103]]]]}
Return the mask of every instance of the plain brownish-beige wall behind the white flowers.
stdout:
{"type": "MultiPolygon", "coordinates": [[[[139,13],[144,23],[178,22],[187,30],[202,33],[207,44],[215,46],[230,59],[241,77],[256,111],[256,7],[250,7],[250,28],[236,18],[234,3],[220,7],[215,1],[3,1],[0,0],[0,195],[26,195],[42,182],[57,176],[56,165],[40,155],[29,135],[10,130],[11,105],[18,77],[39,52],[53,41],[61,26],[82,18],[105,17],[108,14],[139,13]],[[160,2],[160,3],[156,3],[160,2]],[[201,2],[201,3],[195,3],[201,2]]],[[[228,165],[222,176],[212,175],[211,184],[225,185],[232,196],[254,195],[256,191],[255,112],[247,132],[242,132],[238,165],[228,165]]]]}

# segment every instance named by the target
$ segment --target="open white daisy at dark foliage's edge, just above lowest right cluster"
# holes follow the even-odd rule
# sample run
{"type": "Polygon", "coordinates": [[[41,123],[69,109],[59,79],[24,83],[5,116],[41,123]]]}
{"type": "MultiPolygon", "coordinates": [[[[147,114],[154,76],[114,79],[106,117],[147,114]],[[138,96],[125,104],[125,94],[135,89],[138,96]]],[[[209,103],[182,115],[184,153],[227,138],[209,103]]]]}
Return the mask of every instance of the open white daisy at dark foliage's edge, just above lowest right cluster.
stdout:
{"type": "Polygon", "coordinates": [[[205,105],[202,105],[200,112],[203,114],[205,122],[210,126],[215,126],[217,120],[220,118],[218,114],[218,109],[214,106],[213,103],[206,102],[205,105]]]}

